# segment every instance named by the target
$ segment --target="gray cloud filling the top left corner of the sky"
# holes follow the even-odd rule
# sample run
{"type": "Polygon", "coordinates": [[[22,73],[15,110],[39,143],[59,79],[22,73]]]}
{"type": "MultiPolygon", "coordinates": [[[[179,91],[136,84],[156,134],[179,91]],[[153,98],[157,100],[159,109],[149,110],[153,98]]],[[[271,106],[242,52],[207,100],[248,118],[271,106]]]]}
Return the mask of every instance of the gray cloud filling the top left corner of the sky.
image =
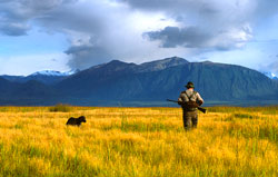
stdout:
{"type": "Polygon", "coordinates": [[[26,36],[29,22],[46,17],[52,10],[75,0],[1,0],[0,32],[7,36],[26,36]]]}

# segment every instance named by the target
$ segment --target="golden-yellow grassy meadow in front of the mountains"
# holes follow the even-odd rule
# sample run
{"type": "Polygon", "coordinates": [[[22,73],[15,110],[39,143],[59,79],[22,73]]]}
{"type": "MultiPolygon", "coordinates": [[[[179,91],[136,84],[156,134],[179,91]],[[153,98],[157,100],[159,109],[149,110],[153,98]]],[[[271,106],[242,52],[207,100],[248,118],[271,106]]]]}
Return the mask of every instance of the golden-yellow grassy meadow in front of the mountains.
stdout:
{"type": "Polygon", "coordinates": [[[2,177],[278,176],[278,107],[0,107],[2,177]],[[80,127],[69,117],[86,116],[80,127]]]}

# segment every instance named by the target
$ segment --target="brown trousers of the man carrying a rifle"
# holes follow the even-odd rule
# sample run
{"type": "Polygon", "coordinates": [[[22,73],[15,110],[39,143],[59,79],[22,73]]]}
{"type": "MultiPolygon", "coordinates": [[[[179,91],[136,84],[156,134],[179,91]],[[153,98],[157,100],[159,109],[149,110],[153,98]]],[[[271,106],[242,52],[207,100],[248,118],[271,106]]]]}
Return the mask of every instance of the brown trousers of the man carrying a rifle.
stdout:
{"type": "Polygon", "coordinates": [[[198,112],[197,110],[195,111],[188,111],[183,110],[183,127],[186,130],[189,130],[191,128],[197,128],[198,124],[198,112]]]}

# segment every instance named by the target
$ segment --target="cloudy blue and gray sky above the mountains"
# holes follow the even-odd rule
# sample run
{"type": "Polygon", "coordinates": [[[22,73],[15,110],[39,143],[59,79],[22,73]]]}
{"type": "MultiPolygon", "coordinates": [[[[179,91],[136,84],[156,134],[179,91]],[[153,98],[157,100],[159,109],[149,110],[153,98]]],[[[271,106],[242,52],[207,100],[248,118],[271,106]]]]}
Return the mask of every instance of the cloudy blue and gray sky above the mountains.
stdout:
{"type": "Polygon", "coordinates": [[[0,75],[172,56],[278,75],[278,0],[0,0],[0,75]]]}

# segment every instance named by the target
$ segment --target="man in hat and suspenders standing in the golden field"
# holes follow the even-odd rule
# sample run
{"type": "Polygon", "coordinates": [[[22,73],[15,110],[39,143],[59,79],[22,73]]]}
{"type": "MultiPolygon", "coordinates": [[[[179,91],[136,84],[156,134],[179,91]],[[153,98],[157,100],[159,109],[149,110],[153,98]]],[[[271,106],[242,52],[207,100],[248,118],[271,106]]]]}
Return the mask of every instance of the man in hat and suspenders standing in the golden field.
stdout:
{"type": "Polygon", "coordinates": [[[189,130],[191,127],[197,128],[197,107],[203,104],[203,99],[199,92],[193,90],[195,86],[191,81],[189,81],[185,87],[187,90],[181,91],[178,104],[181,106],[183,111],[183,127],[186,130],[189,130]]]}

